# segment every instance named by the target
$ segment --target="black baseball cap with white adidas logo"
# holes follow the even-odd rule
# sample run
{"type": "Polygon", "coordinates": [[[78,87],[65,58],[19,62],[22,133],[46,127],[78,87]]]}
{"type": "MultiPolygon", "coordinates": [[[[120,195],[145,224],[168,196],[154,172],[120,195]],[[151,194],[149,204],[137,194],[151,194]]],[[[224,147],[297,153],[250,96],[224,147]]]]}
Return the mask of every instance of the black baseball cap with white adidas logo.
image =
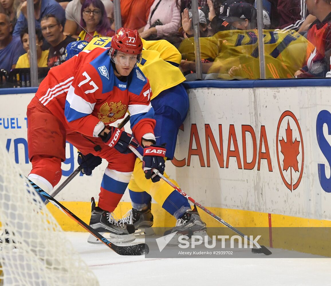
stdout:
{"type": "Polygon", "coordinates": [[[243,2],[231,4],[227,16],[223,18],[228,23],[245,19],[248,19],[250,22],[256,20],[256,9],[252,4],[243,2]]]}

